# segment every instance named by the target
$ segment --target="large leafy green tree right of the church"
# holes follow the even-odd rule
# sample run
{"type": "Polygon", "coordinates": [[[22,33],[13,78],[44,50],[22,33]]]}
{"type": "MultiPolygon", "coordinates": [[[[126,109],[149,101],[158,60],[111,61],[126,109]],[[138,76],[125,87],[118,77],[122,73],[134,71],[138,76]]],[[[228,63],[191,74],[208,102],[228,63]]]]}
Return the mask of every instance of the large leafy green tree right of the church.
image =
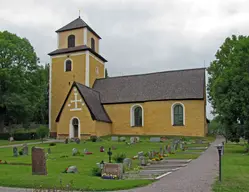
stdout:
{"type": "Polygon", "coordinates": [[[226,38],[208,68],[209,101],[229,140],[249,140],[249,37],[226,38]]]}

